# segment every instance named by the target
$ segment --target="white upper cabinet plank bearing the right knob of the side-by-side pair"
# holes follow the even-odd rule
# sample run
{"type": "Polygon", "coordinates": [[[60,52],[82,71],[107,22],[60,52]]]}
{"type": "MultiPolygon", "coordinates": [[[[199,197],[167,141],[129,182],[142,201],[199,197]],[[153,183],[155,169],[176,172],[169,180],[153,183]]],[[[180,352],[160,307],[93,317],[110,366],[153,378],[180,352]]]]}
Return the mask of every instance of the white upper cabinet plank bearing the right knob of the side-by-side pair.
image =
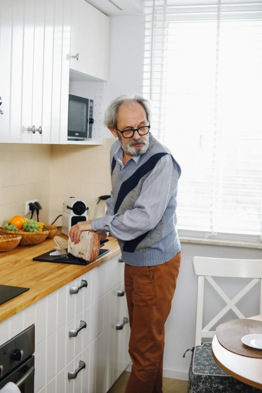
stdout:
{"type": "MultiPolygon", "coordinates": [[[[45,0],[35,3],[35,37],[34,37],[34,67],[33,67],[33,110],[32,123],[38,128],[42,126],[43,105],[43,66],[44,66],[44,37],[45,37],[45,0]]],[[[44,132],[44,129],[43,129],[44,132]]],[[[36,132],[32,143],[41,143],[42,136],[36,132]]]]}

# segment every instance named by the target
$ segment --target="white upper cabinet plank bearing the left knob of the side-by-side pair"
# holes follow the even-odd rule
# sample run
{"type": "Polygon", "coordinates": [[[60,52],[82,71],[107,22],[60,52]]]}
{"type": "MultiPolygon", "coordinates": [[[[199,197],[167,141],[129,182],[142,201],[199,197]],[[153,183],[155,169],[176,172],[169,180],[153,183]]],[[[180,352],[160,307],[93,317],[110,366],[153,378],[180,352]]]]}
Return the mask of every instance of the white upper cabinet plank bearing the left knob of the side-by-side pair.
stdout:
{"type": "Polygon", "coordinates": [[[31,143],[33,134],[28,131],[32,127],[33,105],[33,66],[34,66],[34,28],[35,1],[25,1],[24,50],[23,50],[23,82],[22,82],[22,127],[21,142],[31,143]]]}

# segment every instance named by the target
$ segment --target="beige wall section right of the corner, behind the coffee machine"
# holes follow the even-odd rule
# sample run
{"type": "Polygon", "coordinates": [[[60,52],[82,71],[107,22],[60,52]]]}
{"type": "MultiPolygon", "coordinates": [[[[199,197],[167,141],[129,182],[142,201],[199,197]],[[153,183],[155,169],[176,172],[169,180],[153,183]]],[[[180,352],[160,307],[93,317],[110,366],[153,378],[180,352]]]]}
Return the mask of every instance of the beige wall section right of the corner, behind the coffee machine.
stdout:
{"type": "MultiPolygon", "coordinates": [[[[104,139],[101,146],[52,146],[50,222],[62,213],[70,196],[82,199],[89,207],[88,218],[93,218],[96,198],[111,191],[109,152],[114,141],[104,139]]],[[[62,225],[61,217],[56,224],[62,225]]]]}

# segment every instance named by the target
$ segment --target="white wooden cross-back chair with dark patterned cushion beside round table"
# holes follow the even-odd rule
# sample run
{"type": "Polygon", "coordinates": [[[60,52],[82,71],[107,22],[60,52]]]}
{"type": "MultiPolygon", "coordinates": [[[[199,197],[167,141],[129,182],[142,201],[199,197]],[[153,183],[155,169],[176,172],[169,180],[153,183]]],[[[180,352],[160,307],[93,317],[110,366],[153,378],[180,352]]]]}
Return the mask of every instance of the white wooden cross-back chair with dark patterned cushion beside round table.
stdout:
{"type": "Polygon", "coordinates": [[[195,256],[193,270],[198,276],[197,315],[195,348],[192,349],[192,359],[189,369],[188,391],[192,393],[224,393],[224,392],[255,392],[261,391],[236,380],[226,374],[214,361],[211,343],[202,344],[205,338],[212,338],[215,331],[211,330],[219,320],[231,309],[237,318],[246,318],[237,308],[236,303],[243,298],[257,283],[260,286],[259,311],[262,314],[262,259],[224,259],[195,256]],[[246,278],[251,281],[233,299],[214,281],[213,277],[246,278]],[[225,307],[213,317],[206,326],[203,325],[203,304],[205,296],[205,281],[226,303],[225,307]],[[202,344],[202,345],[201,345],[202,344]]]}

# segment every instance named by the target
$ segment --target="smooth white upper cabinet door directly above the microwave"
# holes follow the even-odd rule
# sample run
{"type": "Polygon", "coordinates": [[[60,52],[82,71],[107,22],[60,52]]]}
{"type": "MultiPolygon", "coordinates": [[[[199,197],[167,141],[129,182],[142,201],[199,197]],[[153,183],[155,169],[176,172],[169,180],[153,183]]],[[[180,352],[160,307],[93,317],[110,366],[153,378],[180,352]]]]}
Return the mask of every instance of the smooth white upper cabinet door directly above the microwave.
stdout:
{"type": "Polygon", "coordinates": [[[71,23],[70,68],[108,80],[110,19],[85,0],[74,0],[71,23]]]}

